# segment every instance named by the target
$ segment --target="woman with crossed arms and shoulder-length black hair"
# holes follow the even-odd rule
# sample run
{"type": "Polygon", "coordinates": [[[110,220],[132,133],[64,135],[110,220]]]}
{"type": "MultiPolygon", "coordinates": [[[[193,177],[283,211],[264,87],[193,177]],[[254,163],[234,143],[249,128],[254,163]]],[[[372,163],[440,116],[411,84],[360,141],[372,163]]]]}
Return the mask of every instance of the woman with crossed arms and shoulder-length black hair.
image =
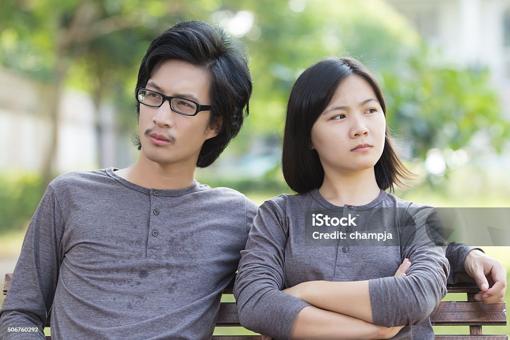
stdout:
{"type": "Polygon", "coordinates": [[[234,289],[241,324],[279,339],[433,338],[428,315],[446,294],[449,266],[444,248],[431,246],[432,209],[384,191],[411,174],[365,66],[328,58],[299,76],[282,161],[298,195],[266,201],[255,217],[234,289]],[[345,217],[329,234],[336,239],[316,227],[319,212],[345,217]],[[384,242],[349,237],[387,229],[384,242]]]}

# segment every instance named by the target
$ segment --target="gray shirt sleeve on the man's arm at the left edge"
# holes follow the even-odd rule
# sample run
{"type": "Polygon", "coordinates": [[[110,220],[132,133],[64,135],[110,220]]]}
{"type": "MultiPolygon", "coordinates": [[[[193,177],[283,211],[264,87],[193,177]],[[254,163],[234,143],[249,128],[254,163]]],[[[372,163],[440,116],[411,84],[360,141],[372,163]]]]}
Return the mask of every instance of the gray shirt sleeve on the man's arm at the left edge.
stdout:
{"type": "Polygon", "coordinates": [[[30,222],[9,292],[0,309],[0,338],[45,338],[42,330],[57,286],[63,229],[57,198],[48,186],[30,222]],[[8,332],[8,327],[38,327],[40,331],[8,332]]]}

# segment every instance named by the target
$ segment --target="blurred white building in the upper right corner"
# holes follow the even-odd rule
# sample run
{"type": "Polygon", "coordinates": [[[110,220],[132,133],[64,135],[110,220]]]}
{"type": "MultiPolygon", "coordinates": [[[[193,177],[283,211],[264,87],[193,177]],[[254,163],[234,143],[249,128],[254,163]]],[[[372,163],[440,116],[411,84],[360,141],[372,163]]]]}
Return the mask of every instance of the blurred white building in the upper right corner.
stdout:
{"type": "Polygon", "coordinates": [[[446,63],[488,67],[510,117],[510,0],[386,0],[446,63]]]}

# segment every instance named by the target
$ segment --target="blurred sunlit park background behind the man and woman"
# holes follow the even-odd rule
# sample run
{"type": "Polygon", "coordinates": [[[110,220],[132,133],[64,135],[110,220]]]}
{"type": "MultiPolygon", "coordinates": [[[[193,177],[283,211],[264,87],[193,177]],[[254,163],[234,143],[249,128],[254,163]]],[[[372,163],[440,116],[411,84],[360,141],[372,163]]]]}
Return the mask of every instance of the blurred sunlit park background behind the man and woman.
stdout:
{"type": "MultiPolygon", "coordinates": [[[[380,81],[399,154],[418,175],[399,197],[510,207],[510,0],[4,0],[0,275],[13,272],[50,180],[136,161],[140,61],[156,35],[191,19],[245,43],[254,84],[240,135],[200,182],[257,203],[291,192],[279,165],[290,88],[323,57],[349,55],[380,81]]],[[[508,249],[486,252],[510,269],[508,249]]]]}

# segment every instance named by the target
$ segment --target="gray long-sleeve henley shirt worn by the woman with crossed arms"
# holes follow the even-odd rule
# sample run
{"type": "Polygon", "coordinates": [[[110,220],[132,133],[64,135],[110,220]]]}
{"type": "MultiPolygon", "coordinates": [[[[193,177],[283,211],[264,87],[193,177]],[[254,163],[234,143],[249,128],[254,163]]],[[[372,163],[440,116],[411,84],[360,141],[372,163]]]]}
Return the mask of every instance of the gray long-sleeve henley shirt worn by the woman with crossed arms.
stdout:
{"type": "MultiPolygon", "coordinates": [[[[424,234],[427,228],[423,226],[435,221],[429,220],[431,210],[382,190],[371,203],[356,207],[330,204],[317,189],[266,201],[253,221],[246,250],[241,252],[234,289],[241,323],[274,338],[289,339],[294,319],[309,304],[282,292],[283,288],[314,280],[369,280],[374,324],[409,325],[395,338],[433,338],[428,315],[446,294],[449,265],[444,248],[430,246],[424,234]],[[355,242],[352,246],[349,240],[342,246],[314,245],[305,234],[310,224],[306,216],[314,209],[343,211],[345,216],[347,212],[366,214],[376,208],[397,207],[407,216],[395,220],[398,246],[356,246],[355,242]],[[411,260],[411,269],[405,277],[394,277],[405,257],[411,260]]],[[[339,230],[354,232],[345,228],[339,230]]],[[[395,240],[391,244],[395,245],[395,240]]],[[[461,252],[464,250],[454,252],[458,260],[465,258],[461,252]]]]}

